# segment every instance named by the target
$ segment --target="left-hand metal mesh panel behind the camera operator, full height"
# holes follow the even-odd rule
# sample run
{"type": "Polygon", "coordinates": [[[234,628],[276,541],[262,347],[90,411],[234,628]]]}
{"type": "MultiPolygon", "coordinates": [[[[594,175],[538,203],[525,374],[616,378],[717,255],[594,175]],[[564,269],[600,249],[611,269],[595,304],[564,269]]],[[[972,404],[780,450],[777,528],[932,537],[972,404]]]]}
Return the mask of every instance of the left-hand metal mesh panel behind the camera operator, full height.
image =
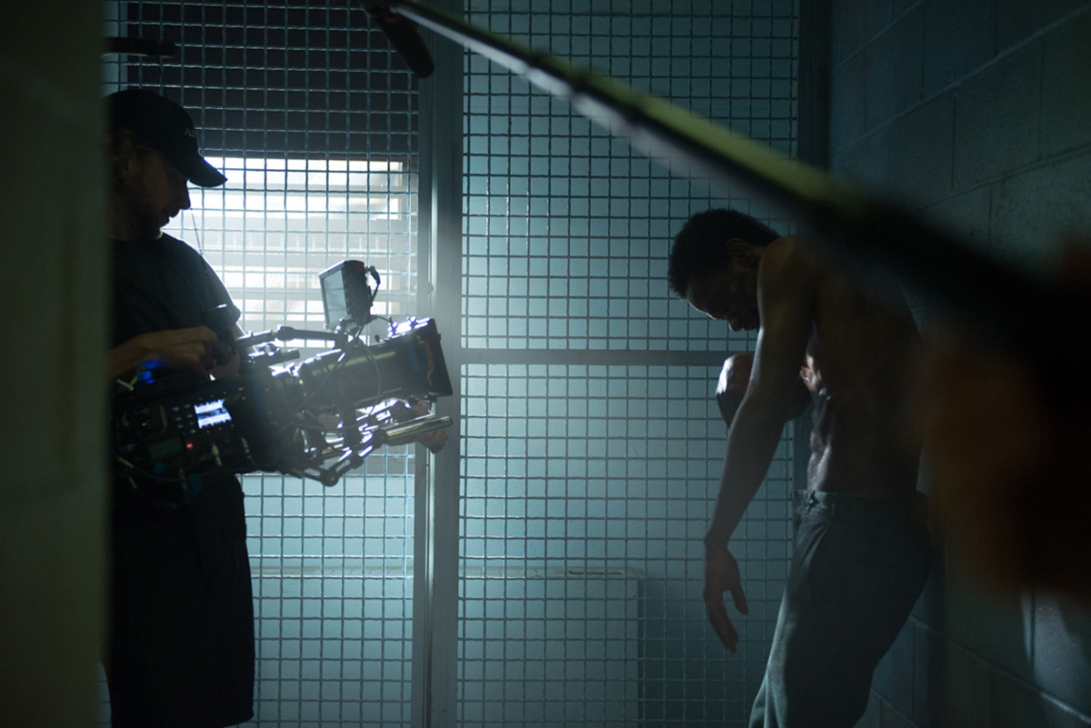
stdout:
{"type": "MultiPolygon", "coordinates": [[[[192,113],[228,182],[192,187],[167,231],[220,275],[245,329],[324,329],[317,274],[347,258],[380,272],[373,313],[417,313],[417,95],[356,3],[106,10],[106,35],[179,48],[108,57],[105,90],[151,87],[192,113]]],[[[371,454],[334,488],[271,474],[243,488],[257,632],[248,725],[407,725],[411,448],[371,454]]]]}

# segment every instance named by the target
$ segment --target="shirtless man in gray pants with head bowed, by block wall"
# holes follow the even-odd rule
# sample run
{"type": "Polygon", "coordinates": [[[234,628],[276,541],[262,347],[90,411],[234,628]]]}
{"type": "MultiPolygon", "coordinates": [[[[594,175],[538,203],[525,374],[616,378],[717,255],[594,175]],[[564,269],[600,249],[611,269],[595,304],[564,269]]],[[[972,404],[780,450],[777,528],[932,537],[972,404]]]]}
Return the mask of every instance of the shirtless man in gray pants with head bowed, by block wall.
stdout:
{"type": "Polygon", "coordinates": [[[799,412],[801,372],[814,403],[807,489],[751,728],[851,728],[928,571],[928,546],[913,519],[920,453],[903,432],[915,393],[916,329],[805,241],[730,210],[690,219],[674,240],[668,277],[697,311],[734,331],[758,332],[752,372],[738,366],[731,375],[745,393],[731,417],[705,536],[705,605],[731,652],[739,633],[724,592],[741,614],[747,608],[728,543],[784,422],[799,412]]]}

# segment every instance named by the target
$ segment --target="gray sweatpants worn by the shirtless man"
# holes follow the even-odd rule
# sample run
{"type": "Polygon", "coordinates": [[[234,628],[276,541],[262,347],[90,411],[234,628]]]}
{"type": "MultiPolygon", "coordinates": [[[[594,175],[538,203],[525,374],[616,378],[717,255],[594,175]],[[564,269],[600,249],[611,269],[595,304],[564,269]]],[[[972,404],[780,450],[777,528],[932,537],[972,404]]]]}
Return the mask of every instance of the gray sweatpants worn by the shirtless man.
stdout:
{"type": "Polygon", "coordinates": [[[875,666],[924,587],[931,554],[909,503],[805,490],[750,728],[852,728],[875,666]]]}

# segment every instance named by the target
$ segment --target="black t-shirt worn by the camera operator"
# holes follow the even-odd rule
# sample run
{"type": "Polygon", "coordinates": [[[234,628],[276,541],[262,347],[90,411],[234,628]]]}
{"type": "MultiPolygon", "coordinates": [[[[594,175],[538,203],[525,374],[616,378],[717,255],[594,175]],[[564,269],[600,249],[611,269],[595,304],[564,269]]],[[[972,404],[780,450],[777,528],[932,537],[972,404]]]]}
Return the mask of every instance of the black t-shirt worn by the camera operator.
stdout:
{"type": "MultiPolygon", "coordinates": [[[[113,330],[117,347],[143,333],[193,326],[212,326],[208,313],[227,306],[227,321],[239,319],[224,283],[192,247],[164,234],[156,240],[110,241],[113,255],[113,330]]],[[[113,525],[116,531],[161,525],[171,521],[241,525],[242,492],[233,475],[206,475],[194,502],[169,508],[134,488],[131,474],[115,470],[113,525]]],[[[137,484],[155,487],[155,484],[137,484]]],[[[215,526],[214,526],[215,527],[215,526]]]]}

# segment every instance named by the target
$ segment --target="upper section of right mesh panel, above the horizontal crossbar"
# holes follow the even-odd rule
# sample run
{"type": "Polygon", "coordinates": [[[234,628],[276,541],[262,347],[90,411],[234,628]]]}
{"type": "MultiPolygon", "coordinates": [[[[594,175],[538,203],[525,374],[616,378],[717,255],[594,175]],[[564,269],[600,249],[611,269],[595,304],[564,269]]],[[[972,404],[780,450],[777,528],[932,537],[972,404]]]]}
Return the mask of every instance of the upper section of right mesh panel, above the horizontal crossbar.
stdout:
{"type": "MultiPolygon", "coordinates": [[[[791,1],[470,7],[484,27],[794,150],[791,1]]],[[[483,58],[467,57],[465,87],[465,345],[721,351],[722,325],[674,313],[670,240],[714,206],[784,232],[790,221],[739,191],[724,198],[700,177],[672,175],[483,58]]]]}

